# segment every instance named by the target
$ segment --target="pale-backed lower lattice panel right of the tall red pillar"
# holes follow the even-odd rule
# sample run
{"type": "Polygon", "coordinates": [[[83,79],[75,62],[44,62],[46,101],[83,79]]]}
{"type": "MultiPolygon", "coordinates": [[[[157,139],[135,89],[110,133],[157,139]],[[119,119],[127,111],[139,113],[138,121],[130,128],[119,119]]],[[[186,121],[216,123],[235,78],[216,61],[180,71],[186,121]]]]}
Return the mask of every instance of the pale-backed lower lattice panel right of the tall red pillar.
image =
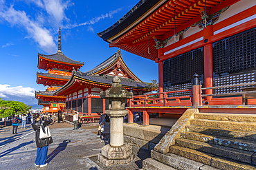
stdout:
{"type": "MultiPolygon", "coordinates": [[[[256,76],[256,72],[230,74],[228,76],[219,76],[217,78],[214,78],[214,86],[251,83],[251,82],[255,82],[255,76],[256,76]]],[[[241,90],[242,87],[253,87],[253,86],[255,85],[225,87],[225,88],[215,89],[215,93],[223,94],[223,93],[232,93],[232,92],[242,92],[241,90]]]]}

